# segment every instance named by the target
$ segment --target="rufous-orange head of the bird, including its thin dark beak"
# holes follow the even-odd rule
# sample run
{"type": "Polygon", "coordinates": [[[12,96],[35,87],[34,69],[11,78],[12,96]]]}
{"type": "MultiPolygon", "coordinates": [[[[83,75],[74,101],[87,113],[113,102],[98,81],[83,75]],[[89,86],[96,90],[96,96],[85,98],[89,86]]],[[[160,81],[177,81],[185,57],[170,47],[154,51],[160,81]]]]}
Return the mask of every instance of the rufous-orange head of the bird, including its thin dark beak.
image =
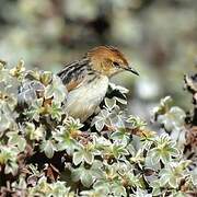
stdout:
{"type": "Polygon", "coordinates": [[[112,77],[120,71],[127,70],[137,76],[139,73],[131,67],[125,56],[112,46],[99,46],[88,53],[91,67],[95,71],[112,77]]]}

